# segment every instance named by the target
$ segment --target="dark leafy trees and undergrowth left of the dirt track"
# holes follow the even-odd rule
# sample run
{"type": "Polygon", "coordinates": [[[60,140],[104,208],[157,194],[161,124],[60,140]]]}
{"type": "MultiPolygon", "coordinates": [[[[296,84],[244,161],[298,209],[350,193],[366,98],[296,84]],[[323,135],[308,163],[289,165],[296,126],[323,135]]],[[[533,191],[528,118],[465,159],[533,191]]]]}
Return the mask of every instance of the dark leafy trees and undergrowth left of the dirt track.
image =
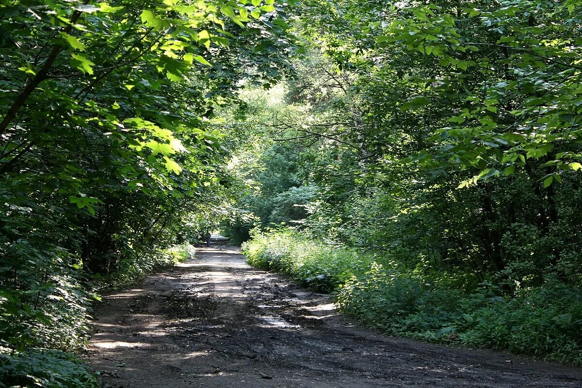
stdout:
{"type": "Polygon", "coordinates": [[[0,387],[93,386],[66,353],[93,291],[212,229],[232,179],[210,119],[287,72],[283,5],[2,3],[0,387]]]}

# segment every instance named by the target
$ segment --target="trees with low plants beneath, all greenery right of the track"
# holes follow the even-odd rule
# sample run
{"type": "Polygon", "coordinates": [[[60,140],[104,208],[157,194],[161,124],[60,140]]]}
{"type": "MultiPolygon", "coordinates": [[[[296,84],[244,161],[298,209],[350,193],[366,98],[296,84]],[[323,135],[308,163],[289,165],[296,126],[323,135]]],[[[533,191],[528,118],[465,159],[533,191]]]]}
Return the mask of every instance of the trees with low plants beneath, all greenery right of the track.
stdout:
{"type": "Polygon", "coordinates": [[[388,333],[580,364],[581,10],[305,3],[228,233],[388,333]]]}

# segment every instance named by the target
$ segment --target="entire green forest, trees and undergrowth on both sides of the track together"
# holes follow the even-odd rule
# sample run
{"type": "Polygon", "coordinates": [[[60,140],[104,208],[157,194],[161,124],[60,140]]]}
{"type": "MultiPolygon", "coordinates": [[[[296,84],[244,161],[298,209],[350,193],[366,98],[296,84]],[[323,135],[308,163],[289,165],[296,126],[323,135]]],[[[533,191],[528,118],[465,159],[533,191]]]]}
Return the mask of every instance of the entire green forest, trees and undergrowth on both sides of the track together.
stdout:
{"type": "Polygon", "coordinates": [[[221,229],[386,334],[582,364],[582,1],[8,0],[0,387],[221,229]]]}

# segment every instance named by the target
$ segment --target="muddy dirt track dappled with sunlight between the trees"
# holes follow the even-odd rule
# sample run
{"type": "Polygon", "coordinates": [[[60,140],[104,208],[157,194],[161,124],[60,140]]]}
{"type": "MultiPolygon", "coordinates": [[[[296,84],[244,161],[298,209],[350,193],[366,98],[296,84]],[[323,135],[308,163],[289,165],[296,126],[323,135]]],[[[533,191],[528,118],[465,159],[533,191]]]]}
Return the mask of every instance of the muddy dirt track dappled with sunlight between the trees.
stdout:
{"type": "Polygon", "coordinates": [[[358,328],[219,239],[95,316],[104,387],[582,387],[580,369],[358,328]]]}

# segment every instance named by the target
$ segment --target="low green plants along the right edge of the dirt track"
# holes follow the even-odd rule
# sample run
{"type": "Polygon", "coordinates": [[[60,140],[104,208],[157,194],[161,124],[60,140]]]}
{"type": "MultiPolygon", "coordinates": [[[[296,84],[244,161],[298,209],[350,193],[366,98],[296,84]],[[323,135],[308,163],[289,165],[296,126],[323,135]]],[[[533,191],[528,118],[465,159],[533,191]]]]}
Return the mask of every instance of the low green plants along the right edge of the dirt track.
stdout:
{"type": "Polygon", "coordinates": [[[510,296],[492,284],[466,290],[458,276],[291,231],[254,236],[243,252],[253,266],[334,293],[340,311],[386,334],[582,365],[582,292],[565,284],[510,296]]]}

